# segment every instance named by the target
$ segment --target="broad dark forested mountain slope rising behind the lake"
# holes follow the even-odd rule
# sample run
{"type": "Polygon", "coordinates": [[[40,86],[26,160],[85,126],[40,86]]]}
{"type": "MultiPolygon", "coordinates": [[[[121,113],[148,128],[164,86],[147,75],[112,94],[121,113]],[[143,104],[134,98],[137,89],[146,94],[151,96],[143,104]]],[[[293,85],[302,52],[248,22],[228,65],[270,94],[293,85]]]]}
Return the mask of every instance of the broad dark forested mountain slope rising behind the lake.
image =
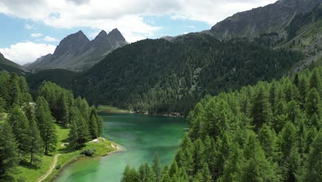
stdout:
{"type": "Polygon", "coordinates": [[[74,90],[92,103],[137,112],[186,114],[204,94],[281,77],[302,54],[248,39],[188,34],[131,43],[78,74],[74,90]]]}

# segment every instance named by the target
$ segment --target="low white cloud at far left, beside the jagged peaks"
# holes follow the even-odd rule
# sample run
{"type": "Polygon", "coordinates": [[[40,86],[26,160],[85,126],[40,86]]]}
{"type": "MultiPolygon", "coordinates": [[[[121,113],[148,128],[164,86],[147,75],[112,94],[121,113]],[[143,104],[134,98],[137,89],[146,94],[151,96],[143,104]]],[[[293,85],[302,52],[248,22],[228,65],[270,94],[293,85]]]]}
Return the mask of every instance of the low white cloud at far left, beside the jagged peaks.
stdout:
{"type": "Polygon", "coordinates": [[[53,53],[55,45],[34,43],[31,41],[11,45],[10,48],[0,48],[0,52],[11,61],[21,65],[35,61],[37,58],[53,53]]]}

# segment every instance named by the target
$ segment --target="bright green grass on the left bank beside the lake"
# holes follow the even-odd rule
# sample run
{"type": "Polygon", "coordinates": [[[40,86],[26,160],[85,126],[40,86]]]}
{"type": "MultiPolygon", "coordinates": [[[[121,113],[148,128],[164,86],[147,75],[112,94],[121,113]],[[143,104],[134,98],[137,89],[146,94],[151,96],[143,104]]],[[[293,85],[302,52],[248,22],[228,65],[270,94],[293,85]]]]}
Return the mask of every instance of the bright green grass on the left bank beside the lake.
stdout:
{"type": "Polygon", "coordinates": [[[83,156],[81,155],[81,151],[87,148],[95,149],[96,153],[94,156],[104,156],[107,155],[109,152],[116,150],[116,148],[111,147],[111,142],[107,139],[103,141],[102,138],[99,139],[98,143],[86,143],[85,147],[81,150],[72,150],[63,143],[67,143],[69,128],[66,128],[62,125],[56,125],[56,132],[58,136],[58,142],[56,151],[53,152],[50,156],[43,156],[41,161],[40,168],[28,168],[27,166],[19,165],[15,168],[11,175],[14,177],[16,181],[26,181],[26,182],[34,182],[37,181],[43,174],[50,169],[52,162],[54,161],[54,156],[56,154],[61,154],[58,156],[58,161],[56,165],[61,165],[59,170],[54,169],[50,176],[48,176],[44,181],[50,181],[52,177],[54,177],[58,172],[63,168],[64,165],[74,161],[77,157],[83,156]]]}

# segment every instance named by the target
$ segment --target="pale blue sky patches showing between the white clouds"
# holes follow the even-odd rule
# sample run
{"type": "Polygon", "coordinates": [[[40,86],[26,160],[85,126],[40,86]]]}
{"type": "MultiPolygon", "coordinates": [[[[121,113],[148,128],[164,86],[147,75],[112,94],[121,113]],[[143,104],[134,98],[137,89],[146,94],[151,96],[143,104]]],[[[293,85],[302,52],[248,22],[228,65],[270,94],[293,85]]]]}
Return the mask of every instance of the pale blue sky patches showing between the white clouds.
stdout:
{"type": "MultiPolygon", "coordinates": [[[[164,36],[176,36],[188,32],[200,32],[211,28],[211,25],[206,22],[191,21],[188,19],[171,19],[169,16],[147,16],[143,17],[143,19],[144,22],[151,26],[160,27],[160,29],[156,30],[151,36],[147,37],[150,39],[157,39],[164,36]]],[[[17,17],[6,16],[5,14],[0,14],[0,22],[1,24],[6,25],[1,28],[0,48],[8,48],[10,45],[21,41],[33,41],[36,43],[50,43],[52,45],[58,45],[61,39],[66,37],[68,34],[78,32],[78,30],[82,30],[86,36],[92,40],[95,38],[94,35],[100,31],[99,29],[87,27],[53,28],[46,26],[41,22],[19,19],[17,17]],[[32,34],[34,34],[34,37],[32,37],[32,34]],[[36,34],[38,34],[38,36],[35,36],[36,34]],[[56,41],[45,41],[45,37],[52,37],[56,39],[56,41]]],[[[109,32],[109,30],[106,31],[109,32]]],[[[122,30],[120,30],[120,32],[122,33],[122,30]]]]}

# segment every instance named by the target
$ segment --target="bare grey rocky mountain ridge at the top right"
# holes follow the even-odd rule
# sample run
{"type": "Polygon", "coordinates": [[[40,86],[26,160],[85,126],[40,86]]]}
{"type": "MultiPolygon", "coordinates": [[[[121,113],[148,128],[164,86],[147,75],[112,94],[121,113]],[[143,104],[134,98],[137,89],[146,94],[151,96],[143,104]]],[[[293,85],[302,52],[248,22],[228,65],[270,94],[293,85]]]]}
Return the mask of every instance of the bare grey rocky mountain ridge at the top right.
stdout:
{"type": "Polygon", "coordinates": [[[296,14],[312,10],[322,0],[280,0],[268,6],[238,12],[210,30],[219,39],[258,37],[265,32],[284,31],[296,14]]]}

